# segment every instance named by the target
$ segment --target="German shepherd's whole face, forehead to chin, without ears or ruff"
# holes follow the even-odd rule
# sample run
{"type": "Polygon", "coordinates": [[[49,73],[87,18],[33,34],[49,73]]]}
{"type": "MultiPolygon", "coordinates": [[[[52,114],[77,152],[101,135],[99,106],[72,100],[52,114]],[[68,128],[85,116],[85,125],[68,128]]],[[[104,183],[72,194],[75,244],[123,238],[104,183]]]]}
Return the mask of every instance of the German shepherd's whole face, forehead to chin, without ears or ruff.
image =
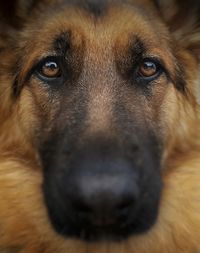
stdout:
{"type": "Polygon", "coordinates": [[[41,1],[19,34],[19,126],[67,238],[121,240],[156,221],[175,104],[186,96],[156,13],[149,1],[41,1]]]}

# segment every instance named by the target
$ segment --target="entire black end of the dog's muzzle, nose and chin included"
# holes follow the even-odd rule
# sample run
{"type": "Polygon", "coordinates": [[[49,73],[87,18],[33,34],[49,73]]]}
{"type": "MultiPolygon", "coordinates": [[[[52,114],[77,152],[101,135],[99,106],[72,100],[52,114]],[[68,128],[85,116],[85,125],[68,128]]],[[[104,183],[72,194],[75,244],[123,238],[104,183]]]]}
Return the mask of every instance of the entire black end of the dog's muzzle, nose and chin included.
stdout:
{"type": "Polygon", "coordinates": [[[143,164],[109,147],[90,145],[67,157],[64,153],[45,170],[45,201],[59,234],[118,241],[155,223],[162,184],[151,157],[143,164]]]}

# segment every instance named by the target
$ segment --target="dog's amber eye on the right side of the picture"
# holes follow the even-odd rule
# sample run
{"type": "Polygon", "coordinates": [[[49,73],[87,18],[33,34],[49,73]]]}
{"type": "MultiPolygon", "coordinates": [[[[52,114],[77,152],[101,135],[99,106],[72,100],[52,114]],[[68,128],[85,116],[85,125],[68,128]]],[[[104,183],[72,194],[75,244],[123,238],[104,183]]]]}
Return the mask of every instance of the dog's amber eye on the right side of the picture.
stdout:
{"type": "Polygon", "coordinates": [[[138,69],[139,75],[144,78],[152,78],[159,74],[159,71],[158,64],[150,60],[144,60],[138,69]]]}

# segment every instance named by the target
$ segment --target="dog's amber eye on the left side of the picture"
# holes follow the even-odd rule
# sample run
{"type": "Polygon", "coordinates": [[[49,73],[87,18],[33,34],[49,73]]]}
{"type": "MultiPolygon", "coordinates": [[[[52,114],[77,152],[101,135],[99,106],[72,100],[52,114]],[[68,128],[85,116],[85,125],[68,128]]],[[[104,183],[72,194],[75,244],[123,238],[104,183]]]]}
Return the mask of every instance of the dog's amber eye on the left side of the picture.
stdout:
{"type": "Polygon", "coordinates": [[[57,78],[61,76],[61,69],[56,61],[46,61],[41,66],[40,74],[46,78],[57,78]]]}

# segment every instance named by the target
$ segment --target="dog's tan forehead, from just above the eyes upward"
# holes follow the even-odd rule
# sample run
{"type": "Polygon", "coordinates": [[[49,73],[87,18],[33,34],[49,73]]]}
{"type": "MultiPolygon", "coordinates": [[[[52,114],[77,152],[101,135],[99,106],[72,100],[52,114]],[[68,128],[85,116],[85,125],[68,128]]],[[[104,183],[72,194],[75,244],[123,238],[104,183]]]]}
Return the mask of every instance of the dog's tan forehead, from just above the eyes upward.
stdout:
{"type": "Polygon", "coordinates": [[[135,41],[140,41],[145,51],[171,62],[170,54],[165,55],[169,52],[167,30],[158,19],[151,18],[149,0],[43,0],[40,3],[47,2],[49,5],[45,4],[41,12],[33,14],[36,16],[29,36],[20,42],[30,50],[29,60],[57,49],[65,53],[68,46],[71,53],[90,56],[93,62],[97,56],[99,59],[128,57],[135,52],[130,51],[135,41]]]}

